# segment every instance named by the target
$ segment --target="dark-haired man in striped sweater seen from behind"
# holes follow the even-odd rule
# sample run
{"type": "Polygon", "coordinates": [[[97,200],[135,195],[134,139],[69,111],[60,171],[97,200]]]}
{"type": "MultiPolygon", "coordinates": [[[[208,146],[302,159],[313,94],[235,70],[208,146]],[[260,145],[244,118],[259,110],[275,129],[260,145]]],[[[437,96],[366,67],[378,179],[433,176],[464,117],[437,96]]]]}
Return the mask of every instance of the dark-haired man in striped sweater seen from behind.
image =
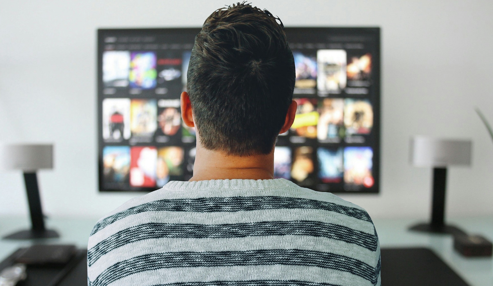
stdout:
{"type": "Polygon", "coordinates": [[[195,39],[184,123],[190,181],[171,181],[101,219],[91,286],[380,285],[380,247],[358,206],[273,179],[274,144],[296,113],[294,61],[270,12],[216,10],[195,39]]]}

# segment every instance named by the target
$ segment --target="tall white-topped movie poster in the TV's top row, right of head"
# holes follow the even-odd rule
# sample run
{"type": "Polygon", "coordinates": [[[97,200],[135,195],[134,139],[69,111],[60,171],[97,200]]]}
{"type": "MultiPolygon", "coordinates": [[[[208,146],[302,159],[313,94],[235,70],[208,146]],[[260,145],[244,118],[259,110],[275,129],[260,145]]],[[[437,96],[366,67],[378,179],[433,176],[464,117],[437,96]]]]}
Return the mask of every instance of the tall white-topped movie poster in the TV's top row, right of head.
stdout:
{"type": "Polygon", "coordinates": [[[317,51],[317,89],[320,95],[339,94],[346,88],[346,51],[317,51]]]}

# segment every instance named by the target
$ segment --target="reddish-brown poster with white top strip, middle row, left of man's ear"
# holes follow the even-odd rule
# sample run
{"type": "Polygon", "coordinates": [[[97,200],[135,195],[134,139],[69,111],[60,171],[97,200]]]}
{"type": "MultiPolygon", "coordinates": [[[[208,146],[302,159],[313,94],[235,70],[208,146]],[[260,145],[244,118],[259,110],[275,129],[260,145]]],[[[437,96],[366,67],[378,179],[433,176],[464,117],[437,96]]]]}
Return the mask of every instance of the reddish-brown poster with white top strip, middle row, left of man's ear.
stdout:
{"type": "Polygon", "coordinates": [[[158,105],[159,130],[167,136],[174,136],[181,128],[179,99],[161,99],[158,105]]]}

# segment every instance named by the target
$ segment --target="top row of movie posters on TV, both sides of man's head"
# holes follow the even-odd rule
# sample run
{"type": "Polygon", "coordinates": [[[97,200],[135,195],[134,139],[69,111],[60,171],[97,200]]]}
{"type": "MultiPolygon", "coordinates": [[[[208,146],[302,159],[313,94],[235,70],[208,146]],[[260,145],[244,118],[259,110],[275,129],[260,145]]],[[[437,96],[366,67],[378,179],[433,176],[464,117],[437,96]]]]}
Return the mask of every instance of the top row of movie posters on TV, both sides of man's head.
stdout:
{"type": "MultiPolygon", "coordinates": [[[[103,93],[129,89],[131,94],[174,95],[186,89],[191,51],[105,51],[103,93]]],[[[372,55],[344,49],[293,51],[295,94],[368,95],[372,55]]]]}

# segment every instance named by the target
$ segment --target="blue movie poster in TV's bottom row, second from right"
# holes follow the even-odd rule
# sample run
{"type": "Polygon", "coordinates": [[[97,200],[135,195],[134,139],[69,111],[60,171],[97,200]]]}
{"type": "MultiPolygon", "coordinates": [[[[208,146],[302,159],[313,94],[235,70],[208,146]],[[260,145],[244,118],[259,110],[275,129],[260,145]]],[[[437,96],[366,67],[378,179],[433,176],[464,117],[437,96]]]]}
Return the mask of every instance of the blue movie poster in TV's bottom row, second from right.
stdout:
{"type": "Polygon", "coordinates": [[[343,148],[317,149],[318,178],[324,183],[340,183],[343,179],[343,148]]]}

